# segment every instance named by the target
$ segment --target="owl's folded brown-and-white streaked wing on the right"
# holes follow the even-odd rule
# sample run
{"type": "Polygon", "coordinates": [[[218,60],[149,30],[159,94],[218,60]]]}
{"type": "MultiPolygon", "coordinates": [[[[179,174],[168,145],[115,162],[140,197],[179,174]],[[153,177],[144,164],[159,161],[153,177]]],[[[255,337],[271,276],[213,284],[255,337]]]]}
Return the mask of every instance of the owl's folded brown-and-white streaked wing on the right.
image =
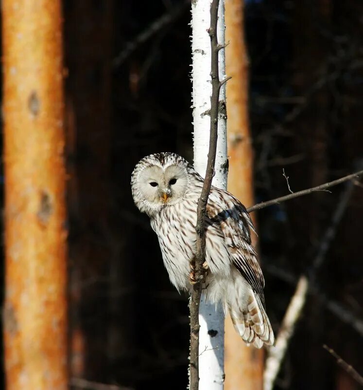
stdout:
{"type": "Polygon", "coordinates": [[[255,229],[246,208],[229,192],[212,187],[207,204],[206,224],[219,225],[231,260],[264,306],[265,281],[251,243],[250,229],[255,229]]]}

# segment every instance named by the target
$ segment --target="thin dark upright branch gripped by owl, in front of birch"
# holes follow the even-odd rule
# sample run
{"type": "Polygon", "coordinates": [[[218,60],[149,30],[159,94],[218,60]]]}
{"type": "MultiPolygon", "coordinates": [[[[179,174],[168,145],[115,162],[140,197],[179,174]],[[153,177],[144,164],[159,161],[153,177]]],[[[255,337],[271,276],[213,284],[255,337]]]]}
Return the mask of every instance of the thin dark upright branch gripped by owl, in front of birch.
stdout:
{"type": "Polygon", "coordinates": [[[206,249],[206,238],[204,232],[204,218],[206,215],[207,202],[212,179],[214,176],[214,165],[217,153],[218,137],[218,106],[221,83],[218,71],[218,21],[219,0],[212,0],[210,5],[210,27],[208,34],[211,47],[211,72],[212,95],[210,97],[210,135],[206,176],[203,183],[202,193],[198,201],[197,223],[195,231],[197,233],[197,251],[195,255],[195,281],[190,299],[190,390],[199,389],[199,305],[202,295],[202,282],[204,279],[203,262],[206,249]]]}

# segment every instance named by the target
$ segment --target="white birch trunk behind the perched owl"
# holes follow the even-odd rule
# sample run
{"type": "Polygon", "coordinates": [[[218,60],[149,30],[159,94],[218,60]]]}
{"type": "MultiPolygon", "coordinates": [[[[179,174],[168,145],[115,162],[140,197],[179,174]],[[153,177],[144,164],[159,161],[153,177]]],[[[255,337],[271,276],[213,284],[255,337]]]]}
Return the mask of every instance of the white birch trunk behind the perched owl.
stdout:
{"type": "MultiPolygon", "coordinates": [[[[211,78],[210,78],[210,0],[191,2],[192,26],[192,83],[194,123],[194,167],[203,177],[207,167],[209,146],[211,78]]],[[[218,11],[218,43],[225,43],[224,0],[218,11]]],[[[219,52],[219,78],[225,78],[225,51],[219,52]]],[[[227,186],[227,144],[225,116],[225,85],[220,92],[220,115],[218,120],[218,144],[213,185],[227,186]]],[[[224,386],[224,313],[222,307],[208,304],[202,297],[199,310],[199,389],[221,390],[224,386]]]]}

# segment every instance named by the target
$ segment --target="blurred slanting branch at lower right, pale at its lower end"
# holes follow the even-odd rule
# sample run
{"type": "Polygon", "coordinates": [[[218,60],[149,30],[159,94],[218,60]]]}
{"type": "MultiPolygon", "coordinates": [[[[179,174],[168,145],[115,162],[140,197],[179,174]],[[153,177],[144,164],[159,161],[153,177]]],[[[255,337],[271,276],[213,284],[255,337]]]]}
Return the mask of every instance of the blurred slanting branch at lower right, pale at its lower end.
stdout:
{"type": "Polygon", "coordinates": [[[310,278],[308,279],[306,275],[302,275],[297,282],[296,290],[293,297],[291,298],[285,316],[282,320],[275,347],[271,347],[269,349],[269,353],[266,359],[266,368],[263,375],[264,390],[271,390],[274,386],[278,371],[281,367],[281,363],[285,357],[287,347],[291,337],[294,334],[295,325],[299,320],[302,310],[305,306],[309,287],[312,284],[311,281],[315,280],[315,275],[326,258],[328,248],[330,247],[331,241],[335,237],[338,224],[341,221],[344,215],[344,211],[348,205],[348,200],[350,199],[353,186],[353,182],[347,184],[346,190],[343,193],[338,206],[334,209],[331,223],[329,224],[328,229],[323,236],[317,256],[313,261],[313,268],[309,273],[310,278]]]}

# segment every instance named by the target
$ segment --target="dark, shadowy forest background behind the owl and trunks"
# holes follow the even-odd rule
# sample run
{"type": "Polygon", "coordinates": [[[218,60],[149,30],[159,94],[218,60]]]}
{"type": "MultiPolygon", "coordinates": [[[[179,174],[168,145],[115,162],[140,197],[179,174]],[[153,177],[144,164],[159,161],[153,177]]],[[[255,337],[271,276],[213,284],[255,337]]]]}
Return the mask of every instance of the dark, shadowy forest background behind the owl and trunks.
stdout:
{"type": "MultiPolygon", "coordinates": [[[[245,21],[256,202],[289,192],[283,168],[293,191],[358,170],[363,2],[250,0],[245,21]]],[[[187,297],[168,280],[156,235],[133,205],[130,175],[150,153],[192,162],[189,23],[184,0],[64,1],[73,377],[135,390],[187,386],[187,297]],[[167,21],[139,43],[162,15],[167,21]]],[[[345,190],[257,212],[275,332],[345,190]]],[[[358,389],[322,345],[363,372],[362,195],[358,183],[276,389],[358,389]]]]}

